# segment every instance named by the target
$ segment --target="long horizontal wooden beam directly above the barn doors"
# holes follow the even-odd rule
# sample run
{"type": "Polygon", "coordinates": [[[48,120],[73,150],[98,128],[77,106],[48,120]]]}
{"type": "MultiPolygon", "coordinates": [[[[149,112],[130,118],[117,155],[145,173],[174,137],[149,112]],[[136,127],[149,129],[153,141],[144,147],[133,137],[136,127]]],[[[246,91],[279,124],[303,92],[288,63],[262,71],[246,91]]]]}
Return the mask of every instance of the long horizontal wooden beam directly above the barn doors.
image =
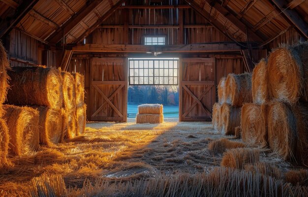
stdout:
{"type": "Polygon", "coordinates": [[[180,44],[180,45],[138,45],[138,44],[79,44],[72,47],[73,52],[98,53],[219,53],[241,52],[235,43],[221,44],[180,44]]]}

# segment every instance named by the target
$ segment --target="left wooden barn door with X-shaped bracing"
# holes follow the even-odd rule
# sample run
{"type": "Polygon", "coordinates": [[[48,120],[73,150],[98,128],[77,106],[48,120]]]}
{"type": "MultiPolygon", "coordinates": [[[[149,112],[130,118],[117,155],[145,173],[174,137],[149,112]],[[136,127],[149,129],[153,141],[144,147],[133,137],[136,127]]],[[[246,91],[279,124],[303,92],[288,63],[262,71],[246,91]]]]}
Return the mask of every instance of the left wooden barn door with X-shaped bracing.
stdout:
{"type": "Polygon", "coordinates": [[[91,120],[127,120],[127,68],[124,58],[92,58],[91,120]]]}

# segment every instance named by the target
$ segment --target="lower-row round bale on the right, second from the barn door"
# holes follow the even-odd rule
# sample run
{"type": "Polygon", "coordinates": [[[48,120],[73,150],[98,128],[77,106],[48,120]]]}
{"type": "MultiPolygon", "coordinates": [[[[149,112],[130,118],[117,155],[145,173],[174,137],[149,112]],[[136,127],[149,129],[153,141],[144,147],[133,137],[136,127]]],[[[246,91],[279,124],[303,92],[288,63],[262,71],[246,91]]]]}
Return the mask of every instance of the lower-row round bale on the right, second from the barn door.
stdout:
{"type": "Polygon", "coordinates": [[[226,135],[234,135],[235,128],[241,124],[241,108],[227,103],[221,105],[220,128],[226,135]]]}

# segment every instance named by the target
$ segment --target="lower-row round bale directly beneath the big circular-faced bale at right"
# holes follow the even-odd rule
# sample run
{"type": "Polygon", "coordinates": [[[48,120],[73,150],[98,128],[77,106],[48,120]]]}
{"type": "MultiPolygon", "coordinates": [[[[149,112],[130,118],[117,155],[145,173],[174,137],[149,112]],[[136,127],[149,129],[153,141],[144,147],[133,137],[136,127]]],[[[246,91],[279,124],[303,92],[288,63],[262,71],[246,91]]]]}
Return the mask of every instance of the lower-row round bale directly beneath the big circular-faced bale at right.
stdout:
{"type": "Polygon", "coordinates": [[[268,144],[284,160],[294,159],[297,120],[292,108],[276,102],[268,106],[268,144]]]}

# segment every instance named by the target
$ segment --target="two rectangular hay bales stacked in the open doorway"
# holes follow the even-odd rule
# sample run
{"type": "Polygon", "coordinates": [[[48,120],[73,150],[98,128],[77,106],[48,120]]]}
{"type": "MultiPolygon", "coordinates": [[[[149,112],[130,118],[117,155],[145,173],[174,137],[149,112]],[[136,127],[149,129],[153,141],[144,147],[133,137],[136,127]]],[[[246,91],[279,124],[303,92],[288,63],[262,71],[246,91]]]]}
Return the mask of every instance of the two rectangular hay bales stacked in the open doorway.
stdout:
{"type": "Polygon", "coordinates": [[[157,124],[163,122],[163,110],[161,104],[142,104],[138,106],[136,123],[157,124]]]}

